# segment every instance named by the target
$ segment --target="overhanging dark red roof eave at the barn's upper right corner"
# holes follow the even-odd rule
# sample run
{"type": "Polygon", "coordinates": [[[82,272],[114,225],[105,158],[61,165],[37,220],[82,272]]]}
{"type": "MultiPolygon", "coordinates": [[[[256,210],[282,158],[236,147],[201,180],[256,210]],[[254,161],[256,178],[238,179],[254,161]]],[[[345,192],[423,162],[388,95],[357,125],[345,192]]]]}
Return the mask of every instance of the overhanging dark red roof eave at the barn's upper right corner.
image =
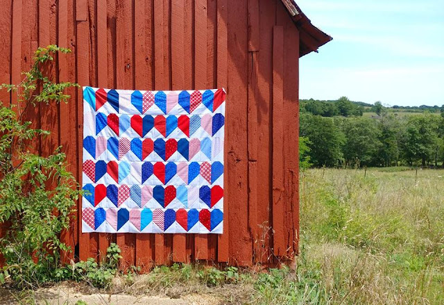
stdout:
{"type": "Polygon", "coordinates": [[[293,20],[293,23],[299,30],[300,35],[300,47],[299,47],[299,57],[307,55],[311,52],[318,52],[318,48],[333,40],[333,38],[316,28],[311,24],[310,19],[302,13],[299,6],[294,0],[281,0],[285,8],[293,20]]]}

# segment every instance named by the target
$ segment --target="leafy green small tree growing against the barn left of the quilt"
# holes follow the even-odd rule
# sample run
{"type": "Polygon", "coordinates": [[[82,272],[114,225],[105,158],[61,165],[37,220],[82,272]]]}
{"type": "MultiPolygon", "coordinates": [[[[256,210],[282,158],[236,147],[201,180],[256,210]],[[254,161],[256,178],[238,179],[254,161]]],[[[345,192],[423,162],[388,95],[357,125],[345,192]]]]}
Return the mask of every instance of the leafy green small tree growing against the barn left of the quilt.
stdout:
{"type": "Polygon", "coordinates": [[[31,152],[37,150],[33,149],[37,138],[44,140],[49,131],[32,129],[31,122],[24,120],[28,107],[67,102],[69,95],[64,90],[77,86],[54,83],[42,73],[59,51],[69,53],[69,49],[55,45],[38,48],[22,83],[0,86],[17,94],[22,106],[0,106],[0,222],[10,225],[0,238],[6,259],[0,280],[10,276],[20,286],[53,278],[60,251],[69,251],[59,234],[68,229],[69,213],[80,194],[60,147],[50,156],[31,152]]]}

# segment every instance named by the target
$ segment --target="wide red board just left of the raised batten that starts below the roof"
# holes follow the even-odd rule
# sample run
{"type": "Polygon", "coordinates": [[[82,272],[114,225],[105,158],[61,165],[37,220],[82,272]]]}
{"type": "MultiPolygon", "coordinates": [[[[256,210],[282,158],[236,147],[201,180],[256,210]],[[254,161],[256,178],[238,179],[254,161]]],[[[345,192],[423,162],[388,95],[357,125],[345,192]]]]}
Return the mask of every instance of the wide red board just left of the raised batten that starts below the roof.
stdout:
{"type": "Polygon", "coordinates": [[[272,188],[272,125],[271,125],[271,103],[273,101],[273,26],[276,17],[275,1],[260,0],[259,2],[259,32],[260,51],[257,52],[257,147],[267,147],[257,151],[257,176],[261,177],[256,186],[257,209],[256,229],[257,241],[255,241],[255,261],[268,263],[273,261],[271,255],[271,211],[273,199],[272,188]],[[262,179],[263,177],[263,179],[262,179]]]}

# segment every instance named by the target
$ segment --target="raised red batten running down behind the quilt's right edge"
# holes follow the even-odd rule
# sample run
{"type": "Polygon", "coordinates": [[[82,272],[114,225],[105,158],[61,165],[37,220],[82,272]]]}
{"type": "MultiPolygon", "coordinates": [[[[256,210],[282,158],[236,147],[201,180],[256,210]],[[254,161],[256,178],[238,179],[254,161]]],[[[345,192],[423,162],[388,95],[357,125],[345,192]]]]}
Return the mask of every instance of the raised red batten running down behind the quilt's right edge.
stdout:
{"type": "MultiPolygon", "coordinates": [[[[228,16],[227,16],[227,0],[217,0],[217,88],[225,88],[228,89],[228,16]]],[[[228,103],[227,103],[228,106],[228,103]]],[[[225,136],[226,139],[226,136],[225,136]]],[[[225,140],[225,148],[224,151],[228,151],[227,141],[225,140]]],[[[228,165],[228,155],[225,152],[224,156],[224,164],[228,165]]],[[[226,172],[225,167],[225,175],[224,175],[224,192],[225,198],[227,197],[227,188],[228,186],[228,173],[226,172]]],[[[217,241],[217,261],[219,263],[228,263],[230,258],[230,247],[229,247],[229,202],[228,200],[224,201],[224,209],[223,209],[223,234],[218,236],[217,241]]]]}

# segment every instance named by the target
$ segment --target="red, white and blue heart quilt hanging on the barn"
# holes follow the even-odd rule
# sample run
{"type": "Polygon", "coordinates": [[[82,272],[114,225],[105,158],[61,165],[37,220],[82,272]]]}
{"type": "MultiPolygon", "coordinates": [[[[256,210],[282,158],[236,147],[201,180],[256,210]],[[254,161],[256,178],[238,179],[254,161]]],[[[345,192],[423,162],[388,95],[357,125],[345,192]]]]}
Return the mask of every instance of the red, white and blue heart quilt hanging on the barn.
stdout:
{"type": "Polygon", "coordinates": [[[222,233],[225,90],[83,88],[84,233],[222,233]]]}

